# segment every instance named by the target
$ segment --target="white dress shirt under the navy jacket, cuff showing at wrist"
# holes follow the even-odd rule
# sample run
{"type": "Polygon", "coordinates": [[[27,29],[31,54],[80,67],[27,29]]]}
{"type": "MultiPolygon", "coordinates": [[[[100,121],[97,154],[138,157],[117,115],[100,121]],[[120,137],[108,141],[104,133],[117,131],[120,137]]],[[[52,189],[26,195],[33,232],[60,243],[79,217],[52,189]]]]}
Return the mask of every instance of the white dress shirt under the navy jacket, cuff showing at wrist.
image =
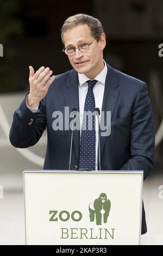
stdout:
{"type": "MultiPolygon", "coordinates": [[[[94,80],[97,80],[98,82],[93,87],[93,94],[95,95],[95,106],[99,108],[100,112],[102,111],[102,103],[103,103],[103,96],[104,96],[104,89],[105,89],[105,80],[106,75],[108,72],[106,63],[104,61],[104,69],[94,78],[94,80]]],[[[87,80],[90,80],[86,75],[79,74],[79,112],[80,112],[80,137],[81,137],[81,131],[82,131],[82,123],[83,123],[83,112],[84,112],[84,103],[85,98],[87,94],[87,87],[88,84],[86,83],[87,80]]],[[[27,95],[28,97],[28,95],[27,95]]],[[[26,103],[27,103],[27,97],[26,97],[26,103]]],[[[37,108],[30,108],[27,104],[27,107],[32,111],[33,113],[39,112],[39,109],[37,108]]],[[[95,169],[98,169],[98,122],[96,120],[96,163],[95,163],[95,169]]]]}

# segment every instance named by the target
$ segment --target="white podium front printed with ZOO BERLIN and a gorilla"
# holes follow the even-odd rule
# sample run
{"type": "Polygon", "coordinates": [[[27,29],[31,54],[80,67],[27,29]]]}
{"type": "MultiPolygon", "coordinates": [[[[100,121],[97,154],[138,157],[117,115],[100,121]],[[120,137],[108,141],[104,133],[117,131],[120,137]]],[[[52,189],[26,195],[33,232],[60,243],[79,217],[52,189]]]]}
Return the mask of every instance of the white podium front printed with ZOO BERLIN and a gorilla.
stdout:
{"type": "Polygon", "coordinates": [[[139,245],[142,171],[25,170],[27,245],[139,245]]]}

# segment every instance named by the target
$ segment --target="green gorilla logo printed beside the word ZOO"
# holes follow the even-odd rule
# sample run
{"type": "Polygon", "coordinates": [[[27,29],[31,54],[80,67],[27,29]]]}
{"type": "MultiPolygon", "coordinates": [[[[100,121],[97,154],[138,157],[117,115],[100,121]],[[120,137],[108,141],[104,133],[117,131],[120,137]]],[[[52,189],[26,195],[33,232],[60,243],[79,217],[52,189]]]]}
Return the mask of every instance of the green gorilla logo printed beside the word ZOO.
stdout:
{"type": "Polygon", "coordinates": [[[103,216],[103,223],[106,223],[108,220],[110,207],[111,207],[110,200],[107,199],[107,196],[105,193],[101,193],[99,198],[95,199],[94,203],[91,202],[89,204],[90,221],[91,222],[95,221],[95,216],[96,216],[96,224],[101,225],[102,216],[103,216]]]}

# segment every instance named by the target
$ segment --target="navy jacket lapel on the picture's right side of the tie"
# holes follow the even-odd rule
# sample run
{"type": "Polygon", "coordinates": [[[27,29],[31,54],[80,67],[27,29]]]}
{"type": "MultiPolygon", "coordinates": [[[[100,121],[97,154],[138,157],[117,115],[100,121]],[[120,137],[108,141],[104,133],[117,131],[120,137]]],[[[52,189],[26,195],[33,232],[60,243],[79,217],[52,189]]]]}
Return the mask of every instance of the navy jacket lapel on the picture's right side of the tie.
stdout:
{"type": "MultiPolygon", "coordinates": [[[[103,105],[102,105],[102,111],[104,111],[105,125],[106,125],[106,111],[111,111],[111,119],[112,119],[114,110],[116,107],[116,103],[120,95],[120,90],[116,88],[118,86],[118,80],[117,80],[115,71],[114,69],[111,68],[111,66],[107,65],[107,67],[108,67],[108,73],[106,75],[106,80],[105,80],[105,89],[104,89],[104,97],[103,97],[103,105]]],[[[103,120],[101,119],[101,122],[102,121],[103,120]]],[[[101,136],[100,137],[101,157],[103,154],[105,141],[106,141],[106,136],[101,136]]]]}

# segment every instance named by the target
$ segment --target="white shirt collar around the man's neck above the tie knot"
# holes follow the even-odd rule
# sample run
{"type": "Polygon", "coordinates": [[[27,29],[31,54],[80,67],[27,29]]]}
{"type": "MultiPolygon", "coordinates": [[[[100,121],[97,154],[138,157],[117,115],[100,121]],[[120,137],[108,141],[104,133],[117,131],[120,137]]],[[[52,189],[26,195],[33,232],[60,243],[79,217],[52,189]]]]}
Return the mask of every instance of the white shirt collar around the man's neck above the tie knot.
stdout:
{"type": "MultiPolygon", "coordinates": [[[[95,80],[97,80],[98,82],[101,82],[102,84],[105,85],[105,80],[106,80],[106,75],[107,75],[107,72],[108,72],[108,69],[107,69],[107,66],[106,66],[106,62],[104,60],[104,69],[95,77],[95,80]]],[[[78,73],[78,77],[79,77],[79,86],[82,87],[83,84],[90,80],[86,75],[84,74],[79,74],[78,73]]]]}

